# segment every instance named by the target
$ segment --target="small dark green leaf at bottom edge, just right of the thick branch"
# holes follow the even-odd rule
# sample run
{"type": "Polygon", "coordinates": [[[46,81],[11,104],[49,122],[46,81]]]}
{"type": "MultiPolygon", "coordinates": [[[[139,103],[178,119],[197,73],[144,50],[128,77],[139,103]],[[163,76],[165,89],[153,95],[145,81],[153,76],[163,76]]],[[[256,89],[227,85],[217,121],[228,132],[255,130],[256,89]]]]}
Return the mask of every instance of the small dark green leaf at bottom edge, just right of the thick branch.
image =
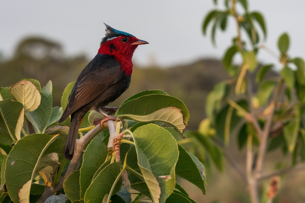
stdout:
{"type": "Polygon", "coordinates": [[[71,173],[63,183],[63,189],[65,190],[67,198],[69,198],[71,202],[79,201],[81,199],[79,177],[80,171],[76,170],[71,173]]]}

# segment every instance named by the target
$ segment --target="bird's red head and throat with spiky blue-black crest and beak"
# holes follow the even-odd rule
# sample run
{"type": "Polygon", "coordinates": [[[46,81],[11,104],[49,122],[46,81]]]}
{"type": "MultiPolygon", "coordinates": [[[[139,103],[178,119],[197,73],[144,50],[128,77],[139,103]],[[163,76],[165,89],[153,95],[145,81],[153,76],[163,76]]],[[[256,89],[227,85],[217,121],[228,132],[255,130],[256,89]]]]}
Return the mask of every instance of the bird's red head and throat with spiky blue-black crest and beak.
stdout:
{"type": "Polygon", "coordinates": [[[135,49],[140,44],[149,43],[144,40],[139,40],[129,33],[113,29],[107,24],[105,25],[106,36],[102,39],[98,53],[113,55],[121,64],[122,70],[124,70],[127,75],[130,75],[132,72],[131,58],[135,49]]]}

